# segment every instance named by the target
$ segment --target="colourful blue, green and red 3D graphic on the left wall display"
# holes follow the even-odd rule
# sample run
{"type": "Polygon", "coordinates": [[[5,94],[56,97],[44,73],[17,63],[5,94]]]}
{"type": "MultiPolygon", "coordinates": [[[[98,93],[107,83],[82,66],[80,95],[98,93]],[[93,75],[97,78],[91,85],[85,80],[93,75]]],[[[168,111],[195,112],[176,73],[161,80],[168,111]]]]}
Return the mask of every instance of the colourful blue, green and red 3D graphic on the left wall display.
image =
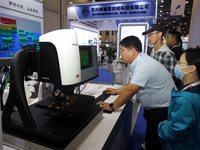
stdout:
{"type": "Polygon", "coordinates": [[[0,13],[0,57],[13,57],[23,46],[39,41],[41,23],[0,13]]]}

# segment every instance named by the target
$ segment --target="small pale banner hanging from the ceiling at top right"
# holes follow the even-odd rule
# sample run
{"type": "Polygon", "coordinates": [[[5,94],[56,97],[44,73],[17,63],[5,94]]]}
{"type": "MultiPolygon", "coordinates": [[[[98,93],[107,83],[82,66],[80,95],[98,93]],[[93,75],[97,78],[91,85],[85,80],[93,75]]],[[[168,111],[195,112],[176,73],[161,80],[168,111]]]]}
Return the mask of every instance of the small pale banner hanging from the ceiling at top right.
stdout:
{"type": "Polygon", "coordinates": [[[172,0],[171,1],[171,16],[184,15],[185,12],[185,1],[186,0],[172,0]]]}

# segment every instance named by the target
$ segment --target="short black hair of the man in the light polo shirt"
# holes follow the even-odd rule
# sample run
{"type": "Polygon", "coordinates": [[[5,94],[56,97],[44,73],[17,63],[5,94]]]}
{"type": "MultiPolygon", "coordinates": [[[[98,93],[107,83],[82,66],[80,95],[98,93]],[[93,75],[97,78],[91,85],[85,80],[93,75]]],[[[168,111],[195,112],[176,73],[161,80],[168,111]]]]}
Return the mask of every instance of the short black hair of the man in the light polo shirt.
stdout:
{"type": "Polygon", "coordinates": [[[140,39],[136,36],[127,36],[121,42],[119,45],[124,46],[126,48],[135,48],[136,51],[142,52],[142,43],[140,39]]]}

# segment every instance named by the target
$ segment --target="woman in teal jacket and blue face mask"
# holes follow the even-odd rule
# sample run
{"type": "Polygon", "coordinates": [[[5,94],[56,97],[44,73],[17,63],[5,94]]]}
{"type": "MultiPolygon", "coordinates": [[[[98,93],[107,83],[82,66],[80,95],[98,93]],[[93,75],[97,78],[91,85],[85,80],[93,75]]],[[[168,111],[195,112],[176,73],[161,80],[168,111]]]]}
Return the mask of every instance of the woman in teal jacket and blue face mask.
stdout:
{"type": "Polygon", "coordinates": [[[172,91],[168,120],[158,125],[158,135],[167,150],[200,149],[200,49],[188,49],[174,69],[183,81],[180,91],[172,91]]]}

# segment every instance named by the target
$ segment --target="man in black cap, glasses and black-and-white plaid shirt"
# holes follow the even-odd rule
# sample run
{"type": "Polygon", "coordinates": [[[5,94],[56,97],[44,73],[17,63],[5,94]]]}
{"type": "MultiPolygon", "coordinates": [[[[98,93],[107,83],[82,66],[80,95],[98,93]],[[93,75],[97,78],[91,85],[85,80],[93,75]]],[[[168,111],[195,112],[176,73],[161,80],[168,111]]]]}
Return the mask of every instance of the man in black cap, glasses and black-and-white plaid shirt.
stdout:
{"type": "Polygon", "coordinates": [[[152,24],[149,30],[143,32],[142,35],[147,35],[149,43],[154,47],[150,56],[163,64],[175,81],[174,67],[176,65],[176,58],[174,53],[162,41],[164,32],[165,30],[162,26],[152,24]]]}

